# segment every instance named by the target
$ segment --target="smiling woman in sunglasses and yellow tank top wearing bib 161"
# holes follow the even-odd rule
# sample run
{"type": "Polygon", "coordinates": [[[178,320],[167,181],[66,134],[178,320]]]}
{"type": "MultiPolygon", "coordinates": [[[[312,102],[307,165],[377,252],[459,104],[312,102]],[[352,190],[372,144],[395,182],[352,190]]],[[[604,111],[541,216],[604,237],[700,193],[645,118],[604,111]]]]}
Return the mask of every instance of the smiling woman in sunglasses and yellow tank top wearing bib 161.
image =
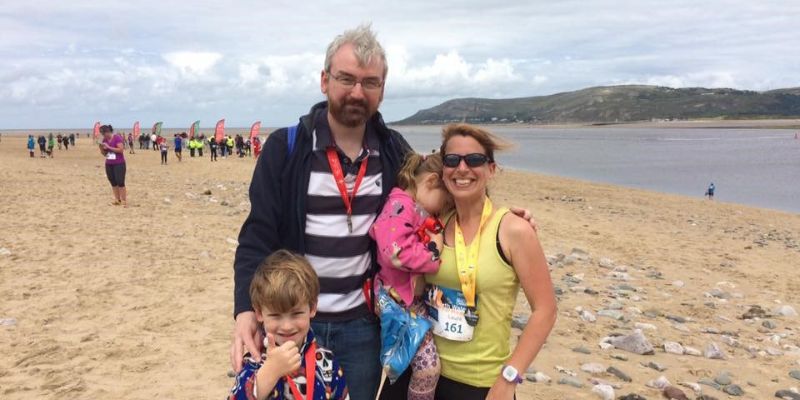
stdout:
{"type": "Polygon", "coordinates": [[[442,179],[455,212],[444,221],[441,267],[425,277],[442,364],[436,399],[513,399],[555,324],[553,284],[534,228],[488,197],[494,152],[503,147],[471,125],[443,130],[442,179]],[[508,339],[520,286],[533,313],[512,352],[508,339]]]}

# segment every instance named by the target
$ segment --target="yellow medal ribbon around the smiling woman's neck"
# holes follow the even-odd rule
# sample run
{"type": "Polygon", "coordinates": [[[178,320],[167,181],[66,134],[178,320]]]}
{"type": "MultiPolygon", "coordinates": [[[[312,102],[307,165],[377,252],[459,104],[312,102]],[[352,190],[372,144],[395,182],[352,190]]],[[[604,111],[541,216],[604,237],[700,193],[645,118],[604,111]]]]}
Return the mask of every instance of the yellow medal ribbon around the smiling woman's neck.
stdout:
{"type": "Polygon", "coordinates": [[[475,292],[477,289],[478,250],[481,242],[481,231],[491,215],[492,201],[488,197],[484,197],[481,223],[469,246],[464,241],[464,233],[461,232],[461,226],[459,226],[458,218],[456,218],[456,267],[458,269],[458,279],[461,281],[461,291],[467,301],[467,322],[472,326],[475,326],[478,322],[475,310],[475,292]]]}

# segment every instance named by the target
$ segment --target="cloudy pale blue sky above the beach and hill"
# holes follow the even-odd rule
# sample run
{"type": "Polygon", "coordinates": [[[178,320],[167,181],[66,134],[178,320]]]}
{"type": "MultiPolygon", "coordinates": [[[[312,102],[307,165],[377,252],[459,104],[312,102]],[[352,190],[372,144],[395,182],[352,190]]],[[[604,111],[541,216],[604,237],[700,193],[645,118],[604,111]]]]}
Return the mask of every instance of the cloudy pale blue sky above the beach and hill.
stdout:
{"type": "Polygon", "coordinates": [[[362,23],[387,52],[387,121],[604,85],[797,87],[798,21],[796,0],[2,0],[0,129],[293,124],[362,23]]]}

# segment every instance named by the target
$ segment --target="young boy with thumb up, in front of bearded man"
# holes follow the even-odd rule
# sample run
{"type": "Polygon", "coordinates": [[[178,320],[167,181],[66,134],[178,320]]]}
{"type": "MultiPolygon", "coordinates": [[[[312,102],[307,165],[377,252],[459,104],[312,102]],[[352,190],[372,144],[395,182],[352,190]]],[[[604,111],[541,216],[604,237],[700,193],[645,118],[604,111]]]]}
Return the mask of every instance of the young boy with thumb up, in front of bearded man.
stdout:
{"type": "Polygon", "coordinates": [[[318,297],[319,278],[305,258],[278,250],[259,265],[250,299],[266,331],[265,354],[261,362],[245,354],[230,400],[350,398],[342,368],[310,329],[318,297]]]}

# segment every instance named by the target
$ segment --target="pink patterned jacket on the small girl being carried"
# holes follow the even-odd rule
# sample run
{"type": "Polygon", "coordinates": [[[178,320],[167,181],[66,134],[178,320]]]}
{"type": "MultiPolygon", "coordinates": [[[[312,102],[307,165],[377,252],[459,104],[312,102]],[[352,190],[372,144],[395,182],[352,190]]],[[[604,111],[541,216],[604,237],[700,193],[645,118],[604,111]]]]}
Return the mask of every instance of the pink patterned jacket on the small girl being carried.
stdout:
{"type": "Polygon", "coordinates": [[[417,236],[417,229],[427,216],[408,193],[394,188],[369,229],[378,244],[378,280],[393,287],[406,306],[414,300],[414,278],[439,270],[438,254],[417,236]]]}

